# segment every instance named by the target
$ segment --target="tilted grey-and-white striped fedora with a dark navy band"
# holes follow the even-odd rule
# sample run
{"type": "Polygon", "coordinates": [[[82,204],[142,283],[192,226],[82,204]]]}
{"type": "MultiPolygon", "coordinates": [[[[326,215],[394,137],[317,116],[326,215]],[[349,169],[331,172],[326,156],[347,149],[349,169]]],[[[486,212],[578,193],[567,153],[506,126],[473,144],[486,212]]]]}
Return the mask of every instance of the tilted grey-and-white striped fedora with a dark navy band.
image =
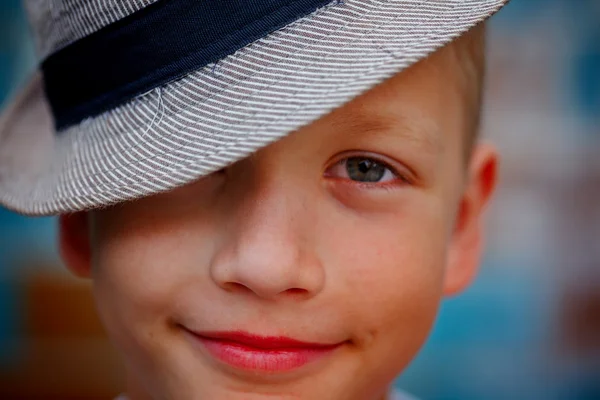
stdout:
{"type": "Polygon", "coordinates": [[[409,67],[507,0],[25,0],[41,63],[0,119],[0,204],[166,191],[409,67]]]}

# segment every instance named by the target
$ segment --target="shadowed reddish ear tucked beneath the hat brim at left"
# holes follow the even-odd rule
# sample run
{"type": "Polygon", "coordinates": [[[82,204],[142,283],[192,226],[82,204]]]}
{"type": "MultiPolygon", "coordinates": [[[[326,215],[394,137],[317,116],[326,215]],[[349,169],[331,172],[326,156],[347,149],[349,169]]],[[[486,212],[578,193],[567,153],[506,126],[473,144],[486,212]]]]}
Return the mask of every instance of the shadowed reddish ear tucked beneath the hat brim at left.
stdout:
{"type": "Polygon", "coordinates": [[[89,278],[91,271],[91,245],[89,218],[85,212],[61,215],[59,226],[59,251],[71,273],[89,278]]]}

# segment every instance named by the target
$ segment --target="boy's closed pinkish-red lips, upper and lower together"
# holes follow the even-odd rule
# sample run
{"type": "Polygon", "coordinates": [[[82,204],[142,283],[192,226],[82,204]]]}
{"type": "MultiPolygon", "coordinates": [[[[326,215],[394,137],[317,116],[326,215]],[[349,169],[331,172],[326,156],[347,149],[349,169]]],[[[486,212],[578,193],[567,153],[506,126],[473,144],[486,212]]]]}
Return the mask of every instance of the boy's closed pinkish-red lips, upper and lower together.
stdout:
{"type": "Polygon", "coordinates": [[[236,369],[278,373],[298,369],[331,354],[342,343],[311,343],[247,332],[193,332],[195,342],[220,362],[236,369]]]}

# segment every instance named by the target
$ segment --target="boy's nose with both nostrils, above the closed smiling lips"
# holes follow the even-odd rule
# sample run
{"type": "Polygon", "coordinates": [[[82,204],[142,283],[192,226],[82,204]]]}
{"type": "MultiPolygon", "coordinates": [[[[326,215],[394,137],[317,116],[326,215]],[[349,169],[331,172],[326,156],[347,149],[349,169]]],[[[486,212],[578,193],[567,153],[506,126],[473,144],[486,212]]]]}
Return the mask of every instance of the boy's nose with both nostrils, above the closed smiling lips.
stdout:
{"type": "Polygon", "coordinates": [[[325,272],[303,194],[273,182],[254,185],[237,197],[241,200],[226,217],[227,234],[211,261],[213,281],[227,291],[271,300],[319,293],[325,272]]]}

